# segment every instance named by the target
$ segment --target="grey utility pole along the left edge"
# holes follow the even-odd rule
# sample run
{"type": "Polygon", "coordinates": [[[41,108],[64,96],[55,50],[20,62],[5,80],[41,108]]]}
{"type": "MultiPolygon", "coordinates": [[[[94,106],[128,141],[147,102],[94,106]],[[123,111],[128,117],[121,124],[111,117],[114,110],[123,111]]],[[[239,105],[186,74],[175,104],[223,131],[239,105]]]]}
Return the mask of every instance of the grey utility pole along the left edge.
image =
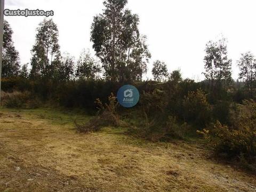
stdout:
{"type": "Polygon", "coordinates": [[[3,33],[4,33],[4,0],[0,0],[0,106],[1,106],[1,82],[2,82],[3,33]]]}

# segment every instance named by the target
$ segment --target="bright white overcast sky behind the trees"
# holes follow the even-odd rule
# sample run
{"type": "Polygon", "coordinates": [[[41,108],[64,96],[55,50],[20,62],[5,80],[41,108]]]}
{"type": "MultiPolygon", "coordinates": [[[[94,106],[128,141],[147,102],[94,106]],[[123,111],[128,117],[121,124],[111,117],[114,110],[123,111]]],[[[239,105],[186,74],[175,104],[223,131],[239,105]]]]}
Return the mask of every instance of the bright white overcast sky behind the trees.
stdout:
{"type": "MultiPolygon", "coordinates": [[[[59,29],[62,52],[76,59],[83,48],[92,50],[90,27],[95,14],[101,13],[103,0],[5,0],[5,9],[53,10],[59,29]]],[[[203,79],[204,49],[207,41],[228,38],[228,55],[233,60],[233,78],[237,78],[236,60],[241,53],[256,54],[256,1],[252,0],[128,0],[127,8],[140,17],[140,32],[148,37],[152,58],[163,60],[169,71],[180,68],[182,76],[203,79]]],[[[49,17],[50,18],[50,17],[49,17]]],[[[30,62],[36,27],[44,17],[5,17],[14,34],[21,64],[30,62]]],[[[93,51],[92,51],[93,53],[93,51]]]]}

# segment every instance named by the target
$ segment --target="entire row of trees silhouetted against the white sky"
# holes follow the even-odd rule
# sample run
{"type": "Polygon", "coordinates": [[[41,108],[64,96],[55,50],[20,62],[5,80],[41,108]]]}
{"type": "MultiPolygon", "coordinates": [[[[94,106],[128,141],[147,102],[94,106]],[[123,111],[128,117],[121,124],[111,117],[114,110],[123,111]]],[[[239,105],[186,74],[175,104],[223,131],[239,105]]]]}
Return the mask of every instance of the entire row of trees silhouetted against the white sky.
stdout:
{"type": "MultiPolygon", "coordinates": [[[[58,43],[58,28],[52,19],[44,19],[36,29],[36,41],[31,49],[31,61],[21,66],[19,53],[12,41],[13,31],[4,21],[3,69],[6,79],[21,77],[30,81],[69,82],[81,80],[101,80],[118,83],[142,82],[147,73],[151,57],[146,44],[146,36],[140,35],[139,17],[124,9],[127,1],[106,1],[106,9],[96,15],[91,27],[91,41],[97,59],[89,50],[82,50],[77,61],[68,53],[61,54],[58,43]],[[115,12],[115,17],[110,13],[115,12]],[[30,67],[29,67],[30,66],[30,67]]],[[[256,81],[256,60],[251,52],[241,54],[237,61],[239,79],[231,77],[232,61],[228,58],[225,38],[217,42],[209,41],[205,48],[205,81],[214,97],[219,91],[236,89],[237,97],[253,98],[256,81]],[[242,94],[244,96],[242,96],[242,94]]],[[[181,78],[180,71],[168,73],[163,61],[153,62],[151,71],[154,81],[170,81],[181,78]]],[[[243,99],[243,98],[242,98],[243,99]]],[[[241,99],[241,100],[242,100],[241,99]]]]}

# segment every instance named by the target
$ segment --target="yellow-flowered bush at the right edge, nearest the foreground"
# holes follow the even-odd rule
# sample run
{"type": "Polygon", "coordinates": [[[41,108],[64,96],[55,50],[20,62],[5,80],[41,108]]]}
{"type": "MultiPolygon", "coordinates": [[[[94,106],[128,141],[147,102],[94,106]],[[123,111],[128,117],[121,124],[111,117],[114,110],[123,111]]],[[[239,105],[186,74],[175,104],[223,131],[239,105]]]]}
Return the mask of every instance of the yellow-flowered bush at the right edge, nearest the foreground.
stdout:
{"type": "Polygon", "coordinates": [[[217,121],[210,131],[198,133],[209,139],[217,155],[239,159],[246,167],[256,169],[256,102],[245,100],[234,119],[230,126],[217,121]]]}

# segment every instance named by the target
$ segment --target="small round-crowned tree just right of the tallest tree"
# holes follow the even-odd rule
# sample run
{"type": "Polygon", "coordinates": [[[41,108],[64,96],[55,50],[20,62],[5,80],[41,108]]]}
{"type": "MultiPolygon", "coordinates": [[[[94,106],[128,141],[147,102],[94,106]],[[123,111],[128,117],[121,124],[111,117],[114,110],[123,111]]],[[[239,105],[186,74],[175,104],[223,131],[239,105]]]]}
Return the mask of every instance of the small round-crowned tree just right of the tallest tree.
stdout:
{"type": "Polygon", "coordinates": [[[156,60],[153,63],[152,75],[155,81],[162,81],[164,77],[168,76],[166,64],[163,61],[156,60]]]}

